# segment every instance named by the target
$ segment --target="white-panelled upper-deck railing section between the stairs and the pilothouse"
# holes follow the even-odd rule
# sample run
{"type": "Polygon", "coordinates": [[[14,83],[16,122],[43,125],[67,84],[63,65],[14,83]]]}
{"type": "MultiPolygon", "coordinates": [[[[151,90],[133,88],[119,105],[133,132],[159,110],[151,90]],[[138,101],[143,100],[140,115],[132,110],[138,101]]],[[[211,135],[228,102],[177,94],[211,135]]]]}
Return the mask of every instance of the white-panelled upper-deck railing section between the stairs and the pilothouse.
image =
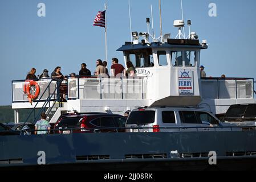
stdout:
{"type": "Polygon", "coordinates": [[[144,78],[70,78],[68,99],[141,99],[145,98],[144,78]]]}

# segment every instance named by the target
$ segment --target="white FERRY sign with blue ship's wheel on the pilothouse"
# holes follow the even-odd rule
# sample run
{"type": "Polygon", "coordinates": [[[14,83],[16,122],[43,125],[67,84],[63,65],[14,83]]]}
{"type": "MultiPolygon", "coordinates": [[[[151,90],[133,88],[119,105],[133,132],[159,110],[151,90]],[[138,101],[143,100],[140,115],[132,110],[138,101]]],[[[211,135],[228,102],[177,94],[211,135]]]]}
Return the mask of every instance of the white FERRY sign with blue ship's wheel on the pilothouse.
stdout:
{"type": "Polygon", "coordinates": [[[178,69],[178,93],[193,94],[193,77],[191,69],[178,69]]]}

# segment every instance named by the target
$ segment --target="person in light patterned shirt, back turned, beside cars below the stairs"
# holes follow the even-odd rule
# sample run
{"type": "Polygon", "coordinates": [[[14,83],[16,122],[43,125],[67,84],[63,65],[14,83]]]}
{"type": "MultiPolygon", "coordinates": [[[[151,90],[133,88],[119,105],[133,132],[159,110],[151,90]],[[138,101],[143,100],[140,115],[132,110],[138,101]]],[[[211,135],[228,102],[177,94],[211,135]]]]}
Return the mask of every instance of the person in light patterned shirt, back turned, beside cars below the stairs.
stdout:
{"type": "Polygon", "coordinates": [[[35,135],[49,134],[49,130],[51,130],[51,125],[48,121],[46,121],[46,114],[41,113],[41,119],[35,123],[35,135]],[[44,131],[36,131],[36,130],[44,130],[44,131]]]}

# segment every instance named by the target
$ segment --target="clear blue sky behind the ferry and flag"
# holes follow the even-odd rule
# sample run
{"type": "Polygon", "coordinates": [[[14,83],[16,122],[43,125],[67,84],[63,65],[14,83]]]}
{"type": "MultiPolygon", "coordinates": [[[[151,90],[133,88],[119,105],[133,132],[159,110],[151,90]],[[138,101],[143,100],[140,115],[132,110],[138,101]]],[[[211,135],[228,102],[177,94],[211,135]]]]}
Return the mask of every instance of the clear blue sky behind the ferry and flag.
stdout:
{"type": "MultiPolygon", "coordinates": [[[[116,49],[131,39],[128,0],[1,0],[0,105],[11,104],[11,80],[24,79],[32,67],[39,75],[43,69],[51,72],[60,65],[66,75],[78,73],[80,64],[87,63],[93,72],[96,59],[105,57],[104,28],[92,26],[105,2],[108,60],[118,57],[123,61],[116,49]],[[45,3],[46,17],[38,17],[38,3],[45,3]]],[[[145,18],[151,16],[151,4],[155,31],[160,34],[157,0],[131,0],[133,31],[147,30],[145,18]]],[[[201,53],[207,75],[256,78],[256,1],[183,0],[183,5],[184,18],[192,20],[192,31],[208,40],[209,49],[201,53]],[[217,17],[208,15],[212,2],[217,5],[217,17]]],[[[180,0],[162,0],[164,33],[176,36],[174,19],[181,19],[180,0]]]]}

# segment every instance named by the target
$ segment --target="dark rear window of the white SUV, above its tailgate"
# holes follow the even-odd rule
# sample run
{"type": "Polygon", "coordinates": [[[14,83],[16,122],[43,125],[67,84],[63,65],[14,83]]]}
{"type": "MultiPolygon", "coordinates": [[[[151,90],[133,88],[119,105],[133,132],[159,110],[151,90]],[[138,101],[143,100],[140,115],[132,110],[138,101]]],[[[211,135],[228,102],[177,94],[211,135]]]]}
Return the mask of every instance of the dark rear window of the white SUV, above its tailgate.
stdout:
{"type": "Polygon", "coordinates": [[[132,111],[127,120],[127,125],[147,125],[155,122],[156,111],[132,111]]]}

